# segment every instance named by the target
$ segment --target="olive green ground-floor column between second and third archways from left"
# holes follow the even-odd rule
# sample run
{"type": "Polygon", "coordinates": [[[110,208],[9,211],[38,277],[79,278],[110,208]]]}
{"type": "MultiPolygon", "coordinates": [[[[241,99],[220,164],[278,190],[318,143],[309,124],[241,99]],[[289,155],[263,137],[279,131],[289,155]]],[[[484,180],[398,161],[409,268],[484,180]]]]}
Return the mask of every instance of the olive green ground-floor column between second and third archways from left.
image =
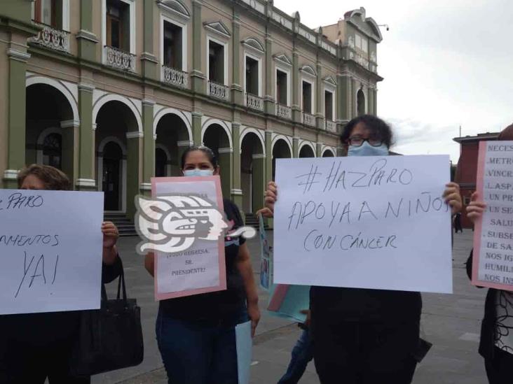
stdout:
{"type": "Polygon", "coordinates": [[[151,194],[151,178],[155,176],[155,141],[157,136],[153,134],[153,108],[155,101],[144,99],[142,101],[142,129],[143,138],[143,165],[142,183],[140,190],[142,194],[151,194]]]}

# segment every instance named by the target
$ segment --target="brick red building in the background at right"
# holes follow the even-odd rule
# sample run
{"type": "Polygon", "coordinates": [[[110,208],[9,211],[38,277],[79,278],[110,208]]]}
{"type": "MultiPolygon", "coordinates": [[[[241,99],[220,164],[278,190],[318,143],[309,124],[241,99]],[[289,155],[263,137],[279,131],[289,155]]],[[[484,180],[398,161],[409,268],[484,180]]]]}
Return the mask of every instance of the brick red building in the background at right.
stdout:
{"type": "Polygon", "coordinates": [[[460,159],[456,168],[454,181],[460,185],[461,197],[463,199],[463,215],[461,223],[463,228],[472,228],[472,223],[465,215],[465,209],[470,202],[472,192],[476,190],[477,156],[479,155],[479,141],[497,140],[499,132],[477,134],[477,136],[463,136],[453,138],[460,144],[460,159]]]}

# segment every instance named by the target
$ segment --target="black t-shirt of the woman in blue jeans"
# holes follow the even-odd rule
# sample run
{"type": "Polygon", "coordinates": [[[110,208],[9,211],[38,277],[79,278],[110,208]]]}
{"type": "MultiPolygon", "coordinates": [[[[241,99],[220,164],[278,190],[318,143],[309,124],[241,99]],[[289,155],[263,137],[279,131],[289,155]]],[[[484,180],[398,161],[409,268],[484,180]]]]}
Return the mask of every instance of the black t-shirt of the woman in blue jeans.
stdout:
{"type": "MultiPolygon", "coordinates": [[[[224,199],[223,204],[225,219],[228,223],[233,222],[232,230],[242,227],[244,222],[238,207],[228,199],[224,199]]],[[[160,301],[160,312],[180,320],[212,324],[236,318],[245,307],[244,282],[237,268],[239,248],[244,243],[242,236],[224,238],[226,290],[163,300],[160,301]]]]}

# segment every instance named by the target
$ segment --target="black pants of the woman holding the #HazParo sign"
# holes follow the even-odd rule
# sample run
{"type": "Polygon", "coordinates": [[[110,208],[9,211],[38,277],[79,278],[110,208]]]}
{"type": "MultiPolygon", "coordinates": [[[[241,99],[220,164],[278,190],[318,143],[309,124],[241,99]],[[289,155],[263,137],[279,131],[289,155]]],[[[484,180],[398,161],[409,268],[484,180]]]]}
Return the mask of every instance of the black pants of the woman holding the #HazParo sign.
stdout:
{"type": "Polygon", "coordinates": [[[418,322],[364,324],[313,315],[312,337],[322,384],[409,384],[413,380],[418,322]]]}

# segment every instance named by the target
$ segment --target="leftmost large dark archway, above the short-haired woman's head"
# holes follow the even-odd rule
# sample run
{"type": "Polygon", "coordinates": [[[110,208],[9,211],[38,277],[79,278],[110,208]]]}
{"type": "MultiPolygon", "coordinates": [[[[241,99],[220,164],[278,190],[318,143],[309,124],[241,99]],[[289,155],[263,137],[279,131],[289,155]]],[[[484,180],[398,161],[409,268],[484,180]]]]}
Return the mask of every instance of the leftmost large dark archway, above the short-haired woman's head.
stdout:
{"type": "Polygon", "coordinates": [[[55,166],[74,180],[74,111],[52,85],[36,83],[26,89],[25,162],[55,166]],[[71,124],[69,124],[71,122],[71,124]]]}

